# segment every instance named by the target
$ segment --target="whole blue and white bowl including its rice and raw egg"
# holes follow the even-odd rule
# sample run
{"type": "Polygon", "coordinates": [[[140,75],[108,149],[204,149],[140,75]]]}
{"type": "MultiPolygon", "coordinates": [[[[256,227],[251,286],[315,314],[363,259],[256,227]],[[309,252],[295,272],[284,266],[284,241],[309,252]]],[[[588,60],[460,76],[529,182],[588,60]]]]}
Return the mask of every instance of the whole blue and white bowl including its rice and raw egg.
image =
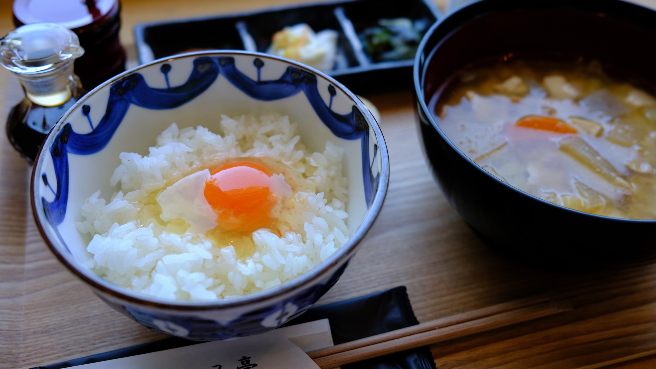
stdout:
{"type": "Polygon", "coordinates": [[[327,292],[380,211],[380,128],[303,64],[201,52],[81,98],[33,169],[54,254],[117,311],[196,340],[272,330],[327,292]]]}

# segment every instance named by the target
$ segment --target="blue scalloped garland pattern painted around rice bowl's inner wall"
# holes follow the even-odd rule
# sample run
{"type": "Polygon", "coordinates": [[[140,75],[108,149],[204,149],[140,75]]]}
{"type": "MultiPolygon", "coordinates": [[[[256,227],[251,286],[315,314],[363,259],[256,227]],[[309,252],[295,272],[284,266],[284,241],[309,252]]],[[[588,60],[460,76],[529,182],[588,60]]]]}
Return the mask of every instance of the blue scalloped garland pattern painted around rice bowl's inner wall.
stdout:
{"type": "MultiPolygon", "coordinates": [[[[264,62],[260,58],[255,58],[253,64],[258,69],[258,76],[260,76],[260,69],[264,66],[264,62]]],[[[258,80],[254,81],[237,70],[235,60],[230,56],[199,56],[194,59],[194,69],[186,83],[173,88],[171,88],[168,78],[171,65],[163,64],[160,70],[166,77],[167,88],[152,88],[148,86],[141,74],[129,74],[112,83],[105,115],[97,125],[94,126],[91,118],[89,118],[91,107],[89,105],[83,106],[83,114],[89,119],[91,133],[75,133],[70,123],[67,123],[56,136],[54,144],[50,148],[50,154],[55,166],[57,190],[53,190],[55,196],[52,202],[42,198],[43,209],[52,225],[62,223],[66,215],[68,153],[89,155],[102,150],[112,139],[114,131],[123,121],[131,104],[148,109],[177,108],[203,93],[219,75],[226,76],[233,85],[258,100],[278,100],[296,95],[302,91],[321,121],[331,129],[335,136],[347,140],[360,140],[362,144],[362,177],[365,201],[367,206],[371,204],[371,196],[380,181],[380,174],[375,177],[371,170],[369,125],[362,112],[355,105],[350,114],[337,114],[331,110],[333,97],[337,93],[333,85],[328,87],[331,100],[326,105],[317,89],[317,77],[310,72],[293,66],[289,66],[285,74],[276,80],[261,81],[258,77],[258,80]]],[[[376,156],[378,154],[378,145],[374,147],[374,156],[376,156]]],[[[41,178],[44,183],[48,184],[48,177],[45,173],[41,175],[41,178]]]]}

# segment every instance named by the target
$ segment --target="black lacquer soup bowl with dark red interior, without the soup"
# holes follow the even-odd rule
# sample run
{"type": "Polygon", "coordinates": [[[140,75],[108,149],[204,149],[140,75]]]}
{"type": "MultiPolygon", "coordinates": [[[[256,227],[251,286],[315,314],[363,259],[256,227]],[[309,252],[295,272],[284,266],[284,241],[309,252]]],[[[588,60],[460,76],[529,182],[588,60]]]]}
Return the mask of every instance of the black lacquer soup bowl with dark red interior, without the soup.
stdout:
{"type": "Polygon", "coordinates": [[[415,58],[420,132],[441,189],[468,225],[506,254],[550,267],[653,261],[656,221],[584,213],[504,183],[449,141],[428,102],[477,60],[518,55],[599,60],[608,74],[630,74],[653,95],[655,41],[656,12],[617,0],[482,0],[434,24],[415,58]]]}

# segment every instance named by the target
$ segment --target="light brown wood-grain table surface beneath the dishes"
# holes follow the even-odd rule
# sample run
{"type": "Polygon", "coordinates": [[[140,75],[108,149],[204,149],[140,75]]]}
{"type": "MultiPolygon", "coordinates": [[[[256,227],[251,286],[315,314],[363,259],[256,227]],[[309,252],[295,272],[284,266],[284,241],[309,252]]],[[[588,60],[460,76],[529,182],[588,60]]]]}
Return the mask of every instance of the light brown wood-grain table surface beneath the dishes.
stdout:
{"type": "MultiPolygon", "coordinates": [[[[642,3],[656,6],[656,0],[642,3]]],[[[123,0],[121,39],[134,65],[132,28],[137,22],[278,4],[123,0]]],[[[0,1],[3,35],[13,28],[10,14],[10,1],[0,1]]],[[[0,116],[6,116],[16,89],[9,72],[0,70],[0,116]]],[[[656,265],[562,274],[499,255],[472,233],[432,179],[417,136],[411,91],[367,98],[382,115],[390,188],[369,238],[319,305],[404,285],[415,315],[425,322],[558,292],[573,311],[434,345],[436,366],[656,368],[656,265]]],[[[167,337],[113,311],[56,261],[28,207],[31,167],[4,133],[0,136],[0,368],[30,368],[167,337]]]]}

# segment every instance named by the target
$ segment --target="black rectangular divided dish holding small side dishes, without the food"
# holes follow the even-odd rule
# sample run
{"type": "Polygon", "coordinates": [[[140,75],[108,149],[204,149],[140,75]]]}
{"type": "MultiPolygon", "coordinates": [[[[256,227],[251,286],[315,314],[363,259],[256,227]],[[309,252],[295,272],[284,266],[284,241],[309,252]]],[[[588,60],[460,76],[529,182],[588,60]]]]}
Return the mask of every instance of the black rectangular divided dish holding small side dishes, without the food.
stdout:
{"type": "Polygon", "coordinates": [[[325,71],[356,93],[409,87],[413,60],[373,62],[358,33],[380,18],[405,17],[428,25],[441,17],[433,0],[346,0],[266,9],[241,14],[137,24],[136,48],[141,64],[189,51],[232,49],[266,52],[274,33],[307,23],[315,32],[339,33],[333,70],[325,71]]]}

